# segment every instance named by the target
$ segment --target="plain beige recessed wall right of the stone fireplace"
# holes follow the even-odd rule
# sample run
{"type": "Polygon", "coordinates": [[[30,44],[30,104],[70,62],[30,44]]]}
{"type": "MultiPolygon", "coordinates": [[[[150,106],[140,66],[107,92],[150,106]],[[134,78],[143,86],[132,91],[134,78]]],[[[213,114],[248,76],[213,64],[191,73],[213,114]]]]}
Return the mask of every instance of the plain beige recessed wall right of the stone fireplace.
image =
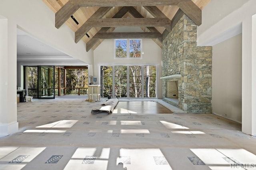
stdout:
{"type": "Polygon", "coordinates": [[[242,34],[212,47],[212,111],[242,122],[242,34]]]}

